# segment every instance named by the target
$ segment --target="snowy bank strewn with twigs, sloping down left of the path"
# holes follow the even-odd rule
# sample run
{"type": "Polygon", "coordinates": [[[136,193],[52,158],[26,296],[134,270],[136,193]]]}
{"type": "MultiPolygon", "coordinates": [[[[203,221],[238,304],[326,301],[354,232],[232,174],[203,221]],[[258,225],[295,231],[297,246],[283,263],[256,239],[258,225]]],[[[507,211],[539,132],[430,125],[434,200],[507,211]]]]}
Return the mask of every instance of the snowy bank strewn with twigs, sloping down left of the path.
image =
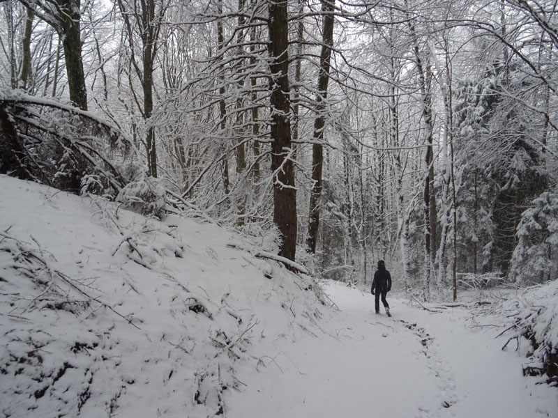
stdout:
{"type": "Polygon", "coordinates": [[[0,176],[0,415],[222,414],[236,364],[264,368],[263,341],[309,333],[322,308],[250,247],[0,176]]]}

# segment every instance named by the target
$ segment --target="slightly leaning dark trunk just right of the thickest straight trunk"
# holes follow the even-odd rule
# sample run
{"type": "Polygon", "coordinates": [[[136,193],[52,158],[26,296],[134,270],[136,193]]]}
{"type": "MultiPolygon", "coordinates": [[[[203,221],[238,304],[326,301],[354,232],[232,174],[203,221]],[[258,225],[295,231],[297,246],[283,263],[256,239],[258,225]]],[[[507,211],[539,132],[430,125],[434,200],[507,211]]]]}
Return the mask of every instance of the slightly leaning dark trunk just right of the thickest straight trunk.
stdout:
{"type": "Polygon", "coordinates": [[[310,209],[308,213],[308,238],[306,245],[312,254],[316,253],[319,231],[319,203],[322,198],[322,167],[324,165],[324,150],[321,141],[324,139],[326,123],[327,86],[329,84],[329,70],[331,48],[333,47],[333,24],[335,17],[333,9],[335,0],[322,0],[324,12],[324,38],[322,54],[319,59],[318,91],[316,97],[316,119],[314,121],[314,135],[312,144],[312,190],[310,192],[310,209]]]}

